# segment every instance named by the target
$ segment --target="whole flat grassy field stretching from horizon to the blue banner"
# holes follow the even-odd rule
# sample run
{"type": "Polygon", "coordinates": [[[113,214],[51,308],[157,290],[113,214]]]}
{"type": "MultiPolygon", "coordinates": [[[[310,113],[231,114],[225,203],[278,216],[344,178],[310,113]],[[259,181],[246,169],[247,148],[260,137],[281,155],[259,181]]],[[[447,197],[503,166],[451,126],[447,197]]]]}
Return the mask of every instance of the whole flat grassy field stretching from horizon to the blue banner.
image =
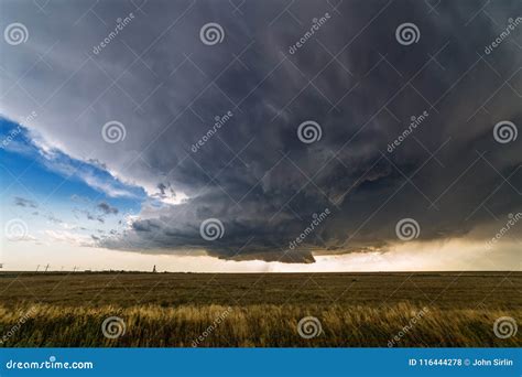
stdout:
{"type": "Polygon", "coordinates": [[[520,322],[521,292],[521,272],[3,272],[0,340],[2,346],[520,346],[512,323],[500,325],[501,336],[493,324],[520,322]]]}

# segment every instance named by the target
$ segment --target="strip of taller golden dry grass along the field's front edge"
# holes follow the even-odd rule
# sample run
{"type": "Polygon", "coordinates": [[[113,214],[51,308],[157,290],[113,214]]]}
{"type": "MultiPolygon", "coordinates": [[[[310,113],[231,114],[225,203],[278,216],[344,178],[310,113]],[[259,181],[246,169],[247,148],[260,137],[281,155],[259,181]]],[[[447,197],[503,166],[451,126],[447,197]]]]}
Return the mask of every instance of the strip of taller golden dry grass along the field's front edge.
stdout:
{"type": "MultiPolygon", "coordinates": [[[[422,308],[407,303],[385,308],[248,305],[222,306],[159,305],[84,308],[36,304],[32,315],[6,342],[6,346],[83,347],[387,347],[422,308]],[[230,308],[230,309],[229,309],[230,308]],[[229,310],[229,312],[227,312],[229,310]],[[227,313],[224,315],[224,313],[227,313]],[[101,324],[117,315],[124,321],[126,333],[116,340],[104,336],[101,324]],[[222,317],[216,324],[218,317],[222,317]],[[297,322],[316,316],[323,332],[302,338],[297,322]],[[214,324],[214,328],[209,326],[214,324]],[[206,336],[205,336],[206,335],[206,336]],[[198,341],[199,337],[199,341],[198,341]],[[196,342],[196,343],[195,343],[196,342]]],[[[8,328],[30,308],[0,308],[0,325],[8,328]]],[[[521,317],[522,311],[511,311],[521,317]]],[[[493,334],[493,322],[503,311],[441,310],[427,308],[415,324],[394,343],[399,347],[522,345],[520,335],[507,340],[493,334]]]]}

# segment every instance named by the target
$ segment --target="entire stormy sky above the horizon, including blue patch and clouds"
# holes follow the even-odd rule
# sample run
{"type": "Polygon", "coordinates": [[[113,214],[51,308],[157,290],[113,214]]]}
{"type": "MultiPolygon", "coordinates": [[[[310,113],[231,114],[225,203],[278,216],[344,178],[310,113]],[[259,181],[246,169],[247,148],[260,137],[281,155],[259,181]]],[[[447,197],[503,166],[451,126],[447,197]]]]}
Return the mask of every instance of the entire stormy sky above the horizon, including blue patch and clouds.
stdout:
{"type": "Polygon", "coordinates": [[[2,1],[3,269],[520,270],[521,13],[2,1]]]}

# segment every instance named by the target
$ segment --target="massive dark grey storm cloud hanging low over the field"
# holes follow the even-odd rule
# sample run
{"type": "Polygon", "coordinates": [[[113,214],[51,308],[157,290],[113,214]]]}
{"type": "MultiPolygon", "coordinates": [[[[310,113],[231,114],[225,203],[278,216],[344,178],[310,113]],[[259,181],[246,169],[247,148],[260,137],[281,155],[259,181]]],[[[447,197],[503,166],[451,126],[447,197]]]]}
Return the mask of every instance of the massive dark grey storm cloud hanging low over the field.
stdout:
{"type": "MultiPolygon", "coordinates": [[[[63,25],[65,46],[50,58],[75,62],[72,72],[86,53],[91,58],[69,83],[75,96],[61,90],[46,104],[59,99],[59,116],[42,133],[163,202],[145,205],[101,246],[313,262],[317,254],[385,250],[402,218],[420,224],[418,240],[487,238],[471,230],[520,211],[521,138],[497,142],[493,127],[522,125],[522,25],[485,54],[508,19],[521,15],[520,2],[491,2],[488,13],[454,1],[341,1],[335,9],[296,1],[284,12],[287,2],[260,4],[149,2],[140,12],[101,2],[108,28],[90,15],[80,28],[63,25]],[[131,11],[121,37],[93,54],[131,11]],[[312,35],[313,19],[323,21],[312,35]],[[207,22],[222,26],[222,43],[199,41],[207,22]],[[418,28],[417,43],[398,43],[405,22],[418,28]],[[131,51],[143,56],[129,68],[131,51]],[[106,73],[122,77],[104,91],[106,73]],[[100,137],[111,119],[126,125],[119,143],[100,137]],[[320,140],[300,140],[306,120],[320,125],[320,140]],[[222,223],[220,238],[202,237],[208,218],[222,223]]],[[[34,32],[45,22],[32,20],[34,32]]],[[[62,26],[53,28],[41,43],[54,41],[62,26]]],[[[35,96],[46,77],[33,84],[35,96]]]]}

